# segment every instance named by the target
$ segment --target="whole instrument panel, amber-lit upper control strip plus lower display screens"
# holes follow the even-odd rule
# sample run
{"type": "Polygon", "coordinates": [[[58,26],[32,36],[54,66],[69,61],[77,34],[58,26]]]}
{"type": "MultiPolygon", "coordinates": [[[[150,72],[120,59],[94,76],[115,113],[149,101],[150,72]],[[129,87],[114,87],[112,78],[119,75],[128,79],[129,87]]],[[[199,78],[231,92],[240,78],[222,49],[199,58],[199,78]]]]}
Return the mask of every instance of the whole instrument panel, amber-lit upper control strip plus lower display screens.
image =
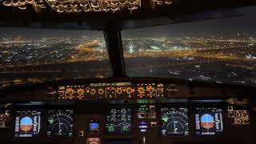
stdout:
{"type": "Polygon", "coordinates": [[[0,134],[8,135],[0,142],[178,144],[231,137],[243,141],[252,134],[255,118],[248,107],[218,98],[177,98],[189,94],[184,91],[161,82],[52,86],[45,93],[51,101],[0,106],[0,134]],[[248,133],[240,135],[241,130],[248,133]]]}

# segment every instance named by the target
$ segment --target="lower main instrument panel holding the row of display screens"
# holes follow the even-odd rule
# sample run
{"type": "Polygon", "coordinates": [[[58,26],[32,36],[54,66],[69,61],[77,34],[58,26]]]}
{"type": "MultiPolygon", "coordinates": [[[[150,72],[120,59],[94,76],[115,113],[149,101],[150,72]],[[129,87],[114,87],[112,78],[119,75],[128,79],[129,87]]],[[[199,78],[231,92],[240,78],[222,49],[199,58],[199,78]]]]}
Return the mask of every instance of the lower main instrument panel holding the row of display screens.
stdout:
{"type": "MultiPolygon", "coordinates": [[[[97,103],[87,103],[83,108],[90,112],[79,110],[76,105],[40,106],[46,107],[40,110],[36,107],[30,106],[28,110],[19,106],[18,110],[11,110],[14,115],[10,117],[15,119],[14,139],[43,137],[59,141],[65,138],[70,142],[84,139],[89,144],[166,143],[172,138],[225,135],[225,129],[246,126],[245,123],[234,125],[228,120],[231,106],[225,103],[215,103],[214,106],[196,103],[192,106],[190,103],[121,102],[102,104],[101,111],[96,110],[97,103]]],[[[250,118],[249,113],[246,116],[250,118]]]]}

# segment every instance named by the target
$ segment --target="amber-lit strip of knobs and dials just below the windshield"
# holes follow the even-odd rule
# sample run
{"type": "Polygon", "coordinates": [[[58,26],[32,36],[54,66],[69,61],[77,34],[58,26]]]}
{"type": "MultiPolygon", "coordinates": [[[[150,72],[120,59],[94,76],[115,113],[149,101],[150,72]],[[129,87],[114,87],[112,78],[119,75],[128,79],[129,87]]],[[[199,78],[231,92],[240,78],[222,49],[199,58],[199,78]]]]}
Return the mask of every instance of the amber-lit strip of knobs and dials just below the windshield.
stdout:
{"type": "MultiPolygon", "coordinates": [[[[169,90],[169,89],[168,89],[169,90]]],[[[163,84],[130,82],[90,83],[87,86],[59,86],[58,100],[164,98],[163,84]]]]}

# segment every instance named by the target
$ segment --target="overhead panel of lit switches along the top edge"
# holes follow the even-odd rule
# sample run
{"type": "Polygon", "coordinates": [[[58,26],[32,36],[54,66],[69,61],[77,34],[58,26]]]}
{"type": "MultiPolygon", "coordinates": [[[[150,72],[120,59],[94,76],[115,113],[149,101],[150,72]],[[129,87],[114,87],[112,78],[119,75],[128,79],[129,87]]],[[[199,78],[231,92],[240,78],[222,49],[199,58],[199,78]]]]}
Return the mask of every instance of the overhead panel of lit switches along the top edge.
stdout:
{"type": "Polygon", "coordinates": [[[48,5],[58,13],[82,13],[82,12],[116,12],[124,8],[128,10],[138,10],[141,7],[140,0],[41,0],[41,1],[22,1],[22,2],[9,2],[4,1],[4,6],[18,7],[20,10],[26,10],[27,6],[34,6],[34,10],[39,12],[46,9],[48,5]],[[36,6],[36,7],[35,7],[36,6]]]}

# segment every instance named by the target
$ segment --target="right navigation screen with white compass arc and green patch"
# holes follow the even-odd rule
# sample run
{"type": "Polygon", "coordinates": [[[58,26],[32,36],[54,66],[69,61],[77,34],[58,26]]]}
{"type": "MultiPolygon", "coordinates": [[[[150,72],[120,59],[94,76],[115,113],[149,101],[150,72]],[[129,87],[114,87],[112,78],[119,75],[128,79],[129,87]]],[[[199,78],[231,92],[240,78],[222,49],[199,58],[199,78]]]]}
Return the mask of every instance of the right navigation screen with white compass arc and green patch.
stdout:
{"type": "Polygon", "coordinates": [[[162,135],[189,135],[187,108],[162,108],[162,135]]]}

